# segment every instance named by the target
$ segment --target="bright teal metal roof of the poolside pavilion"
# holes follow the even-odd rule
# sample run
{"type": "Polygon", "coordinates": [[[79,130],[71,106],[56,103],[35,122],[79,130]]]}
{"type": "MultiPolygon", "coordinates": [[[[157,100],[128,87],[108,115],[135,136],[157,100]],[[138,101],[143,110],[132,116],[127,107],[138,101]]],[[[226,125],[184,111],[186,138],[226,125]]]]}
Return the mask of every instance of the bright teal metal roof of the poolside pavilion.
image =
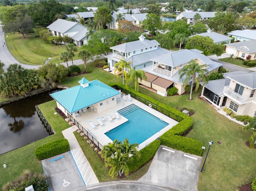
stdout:
{"type": "Polygon", "coordinates": [[[120,94],[119,91],[101,81],[94,80],[90,82],[84,78],[79,82],[81,81],[89,82],[89,86],[82,87],[82,85],[77,85],[52,93],[50,96],[52,96],[52,98],[62,105],[69,113],[74,113],[102,100],[120,94]]]}

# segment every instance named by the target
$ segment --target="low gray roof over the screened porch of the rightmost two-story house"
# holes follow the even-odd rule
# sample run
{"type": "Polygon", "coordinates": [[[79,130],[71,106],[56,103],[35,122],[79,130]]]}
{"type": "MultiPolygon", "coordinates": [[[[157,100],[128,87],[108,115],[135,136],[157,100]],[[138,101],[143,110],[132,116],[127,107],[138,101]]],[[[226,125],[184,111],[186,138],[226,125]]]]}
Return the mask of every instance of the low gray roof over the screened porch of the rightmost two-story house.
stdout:
{"type": "MultiPolygon", "coordinates": [[[[200,82],[201,85],[204,83],[200,82]]],[[[224,86],[228,86],[230,84],[230,79],[218,79],[218,80],[210,80],[204,86],[210,91],[216,93],[218,96],[223,95],[224,86]]]]}

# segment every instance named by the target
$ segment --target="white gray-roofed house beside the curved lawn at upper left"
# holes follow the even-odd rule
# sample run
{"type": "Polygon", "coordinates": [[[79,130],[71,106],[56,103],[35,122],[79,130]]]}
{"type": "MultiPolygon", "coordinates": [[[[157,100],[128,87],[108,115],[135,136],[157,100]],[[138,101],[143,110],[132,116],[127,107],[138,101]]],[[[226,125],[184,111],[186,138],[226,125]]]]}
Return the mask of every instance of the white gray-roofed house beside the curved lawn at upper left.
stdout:
{"type": "Polygon", "coordinates": [[[49,32],[54,36],[64,37],[64,35],[68,35],[73,39],[73,43],[77,46],[86,44],[87,40],[90,39],[90,36],[88,39],[86,37],[86,33],[90,30],[90,28],[77,22],[58,19],[46,28],[48,28],[49,32]]]}

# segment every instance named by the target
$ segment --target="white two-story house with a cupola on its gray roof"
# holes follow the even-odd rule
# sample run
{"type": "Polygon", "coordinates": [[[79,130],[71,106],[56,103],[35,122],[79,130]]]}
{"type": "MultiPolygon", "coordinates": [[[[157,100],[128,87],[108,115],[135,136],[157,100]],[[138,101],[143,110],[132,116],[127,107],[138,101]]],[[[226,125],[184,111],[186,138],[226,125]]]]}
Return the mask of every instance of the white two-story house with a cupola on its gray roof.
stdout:
{"type": "Polygon", "coordinates": [[[110,47],[112,54],[105,56],[108,58],[110,69],[114,70],[114,65],[120,60],[130,61],[131,67],[136,70],[142,69],[152,65],[150,59],[171,52],[158,47],[160,43],[156,40],[147,40],[143,35],[138,38],[137,41],[110,47]]]}

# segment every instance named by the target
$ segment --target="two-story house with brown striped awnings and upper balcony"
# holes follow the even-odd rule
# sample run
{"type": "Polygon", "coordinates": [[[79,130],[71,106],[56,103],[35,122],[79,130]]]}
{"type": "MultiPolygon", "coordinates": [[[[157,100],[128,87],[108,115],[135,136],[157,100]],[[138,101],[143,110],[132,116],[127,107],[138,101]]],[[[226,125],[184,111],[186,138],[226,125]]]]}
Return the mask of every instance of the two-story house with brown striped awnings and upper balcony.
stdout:
{"type": "Polygon", "coordinates": [[[206,64],[205,69],[208,71],[206,75],[217,71],[222,65],[203,55],[202,51],[183,49],[150,59],[153,61],[152,65],[142,68],[147,79],[143,79],[140,83],[155,89],[162,96],[167,95],[170,87],[176,87],[178,94],[181,95],[185,92],[186,85],[192,85],[192,79],[184,84],[185,77],[180,79],[178,72],[185,65],[188,65],[192,59],[200,65],[206,64]]]}

